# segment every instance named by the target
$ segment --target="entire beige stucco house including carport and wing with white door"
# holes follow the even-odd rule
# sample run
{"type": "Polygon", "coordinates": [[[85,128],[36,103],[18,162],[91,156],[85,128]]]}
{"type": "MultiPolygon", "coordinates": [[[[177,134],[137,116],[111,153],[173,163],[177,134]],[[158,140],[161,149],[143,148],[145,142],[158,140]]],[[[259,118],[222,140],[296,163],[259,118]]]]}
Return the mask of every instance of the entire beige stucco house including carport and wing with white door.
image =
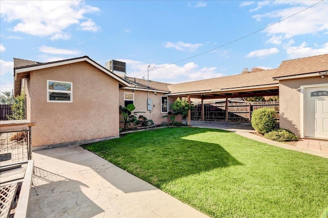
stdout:
{"type": "Polygon", "coordinates": [[[32,133],[37,149],[118,137],[119,105],[133,103],[157,125],[169,123],[162,116],[178,97],[203,105],[207,99],[229,103],[279,94],[281,128],[299,137],[328,139],[327,72],[325,54],[283,61],[272,70],[167,84],[115,74],[87,56],[48,63],[15,58],[14,90],[25,91],[26,118],[37,123],[32,133]]]}

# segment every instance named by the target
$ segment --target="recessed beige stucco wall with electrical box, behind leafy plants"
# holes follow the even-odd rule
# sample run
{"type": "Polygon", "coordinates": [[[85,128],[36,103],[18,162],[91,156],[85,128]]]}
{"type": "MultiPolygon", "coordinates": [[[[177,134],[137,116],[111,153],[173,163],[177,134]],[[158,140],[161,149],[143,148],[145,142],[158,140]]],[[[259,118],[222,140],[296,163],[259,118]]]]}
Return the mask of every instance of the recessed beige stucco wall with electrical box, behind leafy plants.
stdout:
{"type": "MultiPolygon", "coordinates": [[[[119,105],[124,106],[124,92],[133,92],[134,93],[134,106],[135,110],[134,111],[142,111],[146,113],[138,113],[137,117],[139,115],[146,116],[148,119],[152,119],[154,123],[157,125],[162,124],[163,122],[166,122],[168,124],[171,123],[170,118],[165,117],[163,118],[162,116],[168,115],[168,113],[161,113],[161,102],[160,102],[160,97],[164,96],[163,93],[157,92],[157,94],[154,94],[153,91],[149,92],[149,99],[152,100],[153,104],[153,110],[151,113],[147,110],[147,99],[148,99],[148,91],[140,91],[140,90],[127,90],[127,89],[120,89],[119,90],[119,105]],[[155,105],[155,107],[154,107],[155,105]]],[[[176,97],[169,97],[168,98],[168,106],[170,108],[170,105],[176,100],[176,97]]],[[[172,110],[169,110],[172,111],[172,110]]],[[[121,116],[120,116],[120,121],[121,121],[121,116]]],[[[176,121],[181,121],[181,117],[177,117],[176,121]]],[[[123,127],[122,124],[120,124],[120,127],[123,127]]]]}

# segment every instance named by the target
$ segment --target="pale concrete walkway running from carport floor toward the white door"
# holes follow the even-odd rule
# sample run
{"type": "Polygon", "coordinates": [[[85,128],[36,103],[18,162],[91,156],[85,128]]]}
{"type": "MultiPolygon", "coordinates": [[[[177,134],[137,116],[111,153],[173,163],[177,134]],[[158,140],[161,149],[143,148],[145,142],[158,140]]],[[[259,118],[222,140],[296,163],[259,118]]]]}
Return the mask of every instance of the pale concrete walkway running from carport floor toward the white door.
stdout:
{"type": "Polygon", "coordinates": [[[191,125],[193,127],[199,128],[212,128],[212,129],[222,129],[235,132],[238,135],[242,135],[247,138],[251,138],[256,141],[271,144],[276,147],[303,152],[306,154],[312,154],[323,158],[328,158],[328,141],[327,140],[315,140],[315,139],[300,139],[296,146],[291,146],[289,144],[272,141],[264,137],[252,134],[251,132],[256,132],[250,123],[226,123],[226,122],[214,122],[214,121],[192,121],[191,125]]]}

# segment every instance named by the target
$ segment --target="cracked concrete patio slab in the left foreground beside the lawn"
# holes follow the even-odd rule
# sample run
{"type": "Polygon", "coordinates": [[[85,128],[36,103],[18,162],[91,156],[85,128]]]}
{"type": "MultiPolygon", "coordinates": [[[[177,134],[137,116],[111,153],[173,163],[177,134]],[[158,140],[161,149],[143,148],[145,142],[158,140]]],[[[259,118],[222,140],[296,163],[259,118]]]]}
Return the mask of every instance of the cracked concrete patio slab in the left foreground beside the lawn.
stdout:
{"type": "Polygon", "coordinates": [[[32,155],[28,217],[208,217],[79,146],[32,155]]]}

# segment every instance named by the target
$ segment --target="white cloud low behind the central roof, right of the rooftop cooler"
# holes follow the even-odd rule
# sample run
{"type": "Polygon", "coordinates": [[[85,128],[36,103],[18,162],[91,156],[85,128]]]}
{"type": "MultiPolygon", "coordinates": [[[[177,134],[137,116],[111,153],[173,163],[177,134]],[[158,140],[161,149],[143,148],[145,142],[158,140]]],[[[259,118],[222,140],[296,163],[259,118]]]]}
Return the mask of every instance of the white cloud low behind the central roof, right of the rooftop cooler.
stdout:
{"type": "MultiPolygon", "coordinates": [[[[124,61],[127,63],[128,77],[136,77],[137,75],[140,75],[142,72],[147,71],[147,67],[149,65],[140,61],[134,61],[128,59],[120,59],[120,61],[124,61]]],[[[171,64],[168,66],[166,65],[167,64],[154,64],[154,63],[151,64],[151,67],[155,67],[155,70],[149,71],[149,80],[171,83],[171,84],[182,83],[182,82],[221,77],[223,74],[220,71],[225,70],[225,69],[218,70],[216,67],[199,68],[199,66],[194,62],[186,63],[183,66],[178,66],[176,64],[171,64]],[[166,67],[162,67],[162,66],[166,66],[166,67]]],[[[144,76],[145,79],[147,80],[147,73],[145,73],[144,76]]],[[[138,76],[138,78],[141,77],[142,75],[138,76]]]]}

